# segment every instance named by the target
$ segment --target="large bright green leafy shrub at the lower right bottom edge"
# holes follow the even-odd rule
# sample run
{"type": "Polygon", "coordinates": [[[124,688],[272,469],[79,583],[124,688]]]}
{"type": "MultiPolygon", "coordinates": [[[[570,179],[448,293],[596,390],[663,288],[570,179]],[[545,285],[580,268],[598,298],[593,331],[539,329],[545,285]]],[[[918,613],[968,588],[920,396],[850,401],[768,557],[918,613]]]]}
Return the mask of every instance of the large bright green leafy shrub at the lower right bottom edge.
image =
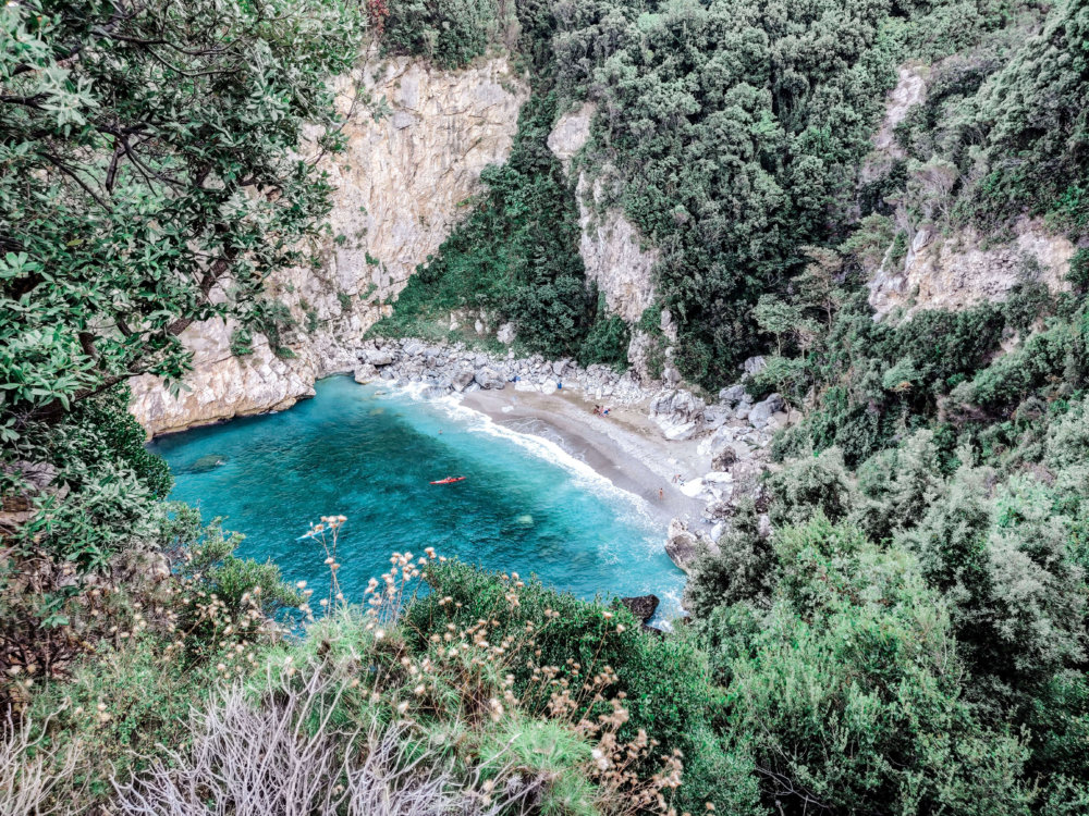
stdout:
{"type": "Polygon", "coordinates": [[[949,621],[911,559],[820,516],[776,533],[776,552],[774,606],[727,687],[729,733],[766,795],[799,812],[1027,813],[1025,751],[959,698],[949,621]]]}

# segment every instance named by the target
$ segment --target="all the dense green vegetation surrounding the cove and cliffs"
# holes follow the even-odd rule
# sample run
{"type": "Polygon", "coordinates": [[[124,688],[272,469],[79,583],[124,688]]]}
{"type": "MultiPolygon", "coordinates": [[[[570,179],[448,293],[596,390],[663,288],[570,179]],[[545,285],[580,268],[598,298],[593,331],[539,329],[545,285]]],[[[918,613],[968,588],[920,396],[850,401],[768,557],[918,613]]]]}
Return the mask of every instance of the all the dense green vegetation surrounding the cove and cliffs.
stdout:
{"type": "Polygon", "coordinates": [[[1085,2],[20,0],[0,33],[0,813],[1089,812],[1085,2]],[[290,354],[262,282],[320,231],[299,138],[337,149],[368,23],[445,67],[521,32],[533,79],[381,331],[484,312],[623,363],[547,147],[589,100],[575,168],[661,250],[685,376],[762,353],[750,391],[804,409],[670,635],[430,553],[315,621],[161,502],[124,381],[179,382],[215,316],[290,354]],[[862,182],[906,60],[926,98],[862,182]],[[1068,290],[1026,261],[1001,301],[873,319],[919,230],[1025,215],[1079,245],[1068,290]]]}

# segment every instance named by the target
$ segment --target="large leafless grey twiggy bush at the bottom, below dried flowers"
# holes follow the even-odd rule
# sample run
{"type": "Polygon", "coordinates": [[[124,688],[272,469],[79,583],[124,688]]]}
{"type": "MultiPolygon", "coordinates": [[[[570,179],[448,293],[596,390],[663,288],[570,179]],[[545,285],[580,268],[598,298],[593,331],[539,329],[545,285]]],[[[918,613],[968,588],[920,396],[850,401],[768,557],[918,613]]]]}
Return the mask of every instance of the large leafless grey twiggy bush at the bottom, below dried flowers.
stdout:
{"type": "Polygon", "coordinates": [[[259,693],[240,683],[194,713],[193,745],[134,781],[114,780],[125,816],[499,816],[523,813],[533,786],[465,782],[407,721],[337,721],[351,687],[325,664],[267,672],[259,693]]]}

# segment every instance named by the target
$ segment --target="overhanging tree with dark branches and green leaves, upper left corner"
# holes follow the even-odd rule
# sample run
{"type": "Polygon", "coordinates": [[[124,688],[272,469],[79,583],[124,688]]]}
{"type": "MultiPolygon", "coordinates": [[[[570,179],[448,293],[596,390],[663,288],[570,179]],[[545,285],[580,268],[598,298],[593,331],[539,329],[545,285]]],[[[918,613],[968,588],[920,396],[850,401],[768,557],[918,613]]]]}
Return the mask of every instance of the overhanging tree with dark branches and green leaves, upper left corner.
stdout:
{"type": "Polygon", "coordinates": [[[143,372],[194,321],[246,323],[299,259],[337,147],[342,0],[16,0],[0,9],[0,428],[143,372]],[[318,147],[313,152],[318,152],[318,147]]]}

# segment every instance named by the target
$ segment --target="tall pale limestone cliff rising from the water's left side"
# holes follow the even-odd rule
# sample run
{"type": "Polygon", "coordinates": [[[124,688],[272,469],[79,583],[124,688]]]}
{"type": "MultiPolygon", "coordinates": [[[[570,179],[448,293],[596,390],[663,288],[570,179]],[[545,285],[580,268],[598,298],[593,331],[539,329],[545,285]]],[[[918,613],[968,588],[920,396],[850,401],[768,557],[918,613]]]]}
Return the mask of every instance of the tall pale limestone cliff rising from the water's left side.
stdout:
{"type": "Polygon", "coordinates": [[[286,408],[313,395],[316,379],[354,370],[352,349],[389,312],[382,302],[466,214],[460,205],[479,188],[484,168],[506,160],[528,95],[505,57],[441,71],[377,52],[337,89],[352,114],[345,153],[322,160],[337,188],[332,234],[313,247],[320,268],[286,270],[268,284],[297,324],[290,350],[277,356],[257,337],[253,354],[236,358],[233,325],[191,325],[182,339],[194,370],[176,398],[156,378],[131,382],[131,410],[149,434],[286,408]],[[377,107],[363,104],[367,97],[377,107]]]}

